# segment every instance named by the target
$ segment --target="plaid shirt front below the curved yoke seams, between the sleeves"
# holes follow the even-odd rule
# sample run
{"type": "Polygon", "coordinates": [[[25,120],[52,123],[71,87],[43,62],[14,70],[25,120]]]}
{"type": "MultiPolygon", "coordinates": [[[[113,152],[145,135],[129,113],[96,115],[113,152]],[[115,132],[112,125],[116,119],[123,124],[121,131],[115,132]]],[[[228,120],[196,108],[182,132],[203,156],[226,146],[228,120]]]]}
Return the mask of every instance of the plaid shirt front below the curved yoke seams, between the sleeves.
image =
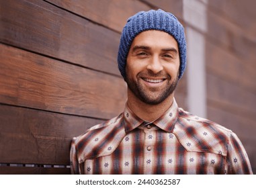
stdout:
{"type": "Polygon", "coordinates": [[[224,174],[226,160],[187,151],[175,134],[148,131],[128,134],[112,154],[87,159],[81,166],[85,174],[224,174]]]}

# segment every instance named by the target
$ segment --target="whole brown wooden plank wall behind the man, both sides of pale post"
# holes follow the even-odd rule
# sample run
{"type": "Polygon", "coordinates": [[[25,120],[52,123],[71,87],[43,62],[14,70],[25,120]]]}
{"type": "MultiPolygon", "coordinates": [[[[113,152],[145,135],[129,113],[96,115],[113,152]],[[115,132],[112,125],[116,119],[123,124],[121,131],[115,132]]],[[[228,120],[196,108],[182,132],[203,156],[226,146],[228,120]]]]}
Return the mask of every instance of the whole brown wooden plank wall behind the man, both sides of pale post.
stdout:
{"type": "MultiPolygon", "coordinates": [[[[204,36],[208,118],[238,134],[256,173],[253,7],[208,1],[204,36]]],[[[124,108],[116,56],[126,19],[158,8],[187,26],[180,0],[0,0],[0,174],[70,173],[71,138],[124,108]]],[[[175,93],[184,109],[186,77],[175,93]]]]}

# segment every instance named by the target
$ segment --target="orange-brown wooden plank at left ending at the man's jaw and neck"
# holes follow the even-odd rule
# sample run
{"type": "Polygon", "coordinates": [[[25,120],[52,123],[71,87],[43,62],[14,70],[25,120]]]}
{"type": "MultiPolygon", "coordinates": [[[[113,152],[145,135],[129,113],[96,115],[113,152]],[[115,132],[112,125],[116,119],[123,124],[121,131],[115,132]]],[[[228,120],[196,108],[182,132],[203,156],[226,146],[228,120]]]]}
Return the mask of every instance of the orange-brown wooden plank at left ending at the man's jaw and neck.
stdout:
{"type": "Polygon", "coordinates": [[[0,103],[110,119],[124,108],[123,79],[0,44],[0,103]]]}

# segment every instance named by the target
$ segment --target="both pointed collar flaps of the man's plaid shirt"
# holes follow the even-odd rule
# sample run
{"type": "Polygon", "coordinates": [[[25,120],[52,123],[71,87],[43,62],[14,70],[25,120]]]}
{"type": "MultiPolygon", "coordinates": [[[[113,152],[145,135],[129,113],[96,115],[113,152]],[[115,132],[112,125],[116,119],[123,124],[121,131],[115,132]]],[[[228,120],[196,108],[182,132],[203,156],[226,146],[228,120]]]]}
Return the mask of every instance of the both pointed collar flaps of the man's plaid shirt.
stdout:
{"type": "MultiPolygon", "coordinates": [[[[171,105],[171,107],[169,107],[169,109],[167,109],[167,111],[165,111],[165,113],[163,113],[160,118],[157,118],[157,120],[153,121],[152,124],[161,128],[162,130],[165,130],[166,132],[172,132],[175,123],[177,122],[178,115],[178,105],[173,98],[173,104],[171,105]]],[[[138,116],[133,113],[126,104],[126,107],[124,109],[124,127],[126,133],[134,130],[143,122],[144,120],[138,118],[138,116]]]]}

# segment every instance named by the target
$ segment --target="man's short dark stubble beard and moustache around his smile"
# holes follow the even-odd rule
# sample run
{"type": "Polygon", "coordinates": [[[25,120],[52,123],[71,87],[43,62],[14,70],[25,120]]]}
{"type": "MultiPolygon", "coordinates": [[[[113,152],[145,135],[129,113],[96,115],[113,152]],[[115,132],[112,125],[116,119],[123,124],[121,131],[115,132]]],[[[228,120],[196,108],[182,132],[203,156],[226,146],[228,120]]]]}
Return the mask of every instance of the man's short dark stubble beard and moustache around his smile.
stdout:
{"type": "Polygon", "coordinates": [[[140,101],[149,104],[149,105],[157,105],[159,103],[162,103],[175,91],[175,88],[177,87],[177,83],[179,80],[179,74],[177,74],[177,77],[173,82],[171,82],[171,76],[170,75],[164,75],[164,77],[167,77],[167,84],[166,86],[161,88],[155,88],[155,87],[144,87],[144,84],[142,83],[141,77],[161,77],[165,73],[158,73],[155,75],[154,73],[151,73],[150,71],[147,71],[147,73],[138,73],[136,76],[136,81],[133,81],[132,78],[129,77],[129,75],[126,73],[126,83],[128,85],[128,88],[134,95],[140,99],[140,101]]]}

